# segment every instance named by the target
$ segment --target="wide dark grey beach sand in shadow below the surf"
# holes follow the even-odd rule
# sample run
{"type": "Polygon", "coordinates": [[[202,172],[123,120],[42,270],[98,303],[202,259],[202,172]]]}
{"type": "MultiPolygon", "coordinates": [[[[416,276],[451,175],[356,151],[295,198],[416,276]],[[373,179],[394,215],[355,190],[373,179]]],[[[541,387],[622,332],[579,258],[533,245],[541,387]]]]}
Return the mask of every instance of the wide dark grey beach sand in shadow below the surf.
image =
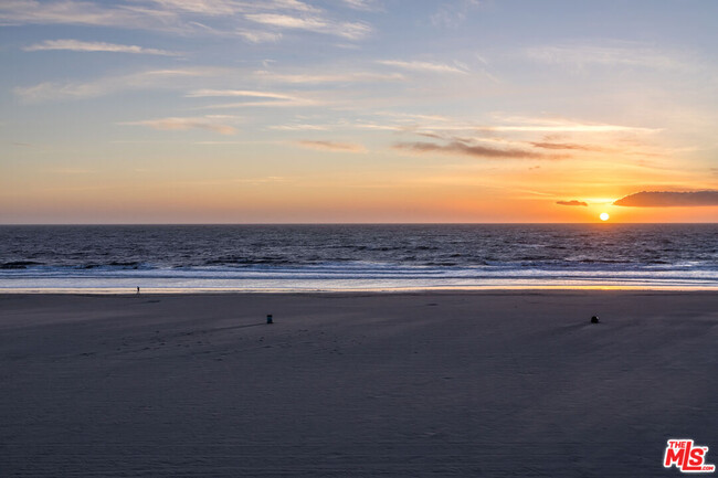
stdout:
{"type": "Polygon", "coordinates": [[[679,476],[717,346],[716,293],[2,295],[0,476],[679,476]]]}

